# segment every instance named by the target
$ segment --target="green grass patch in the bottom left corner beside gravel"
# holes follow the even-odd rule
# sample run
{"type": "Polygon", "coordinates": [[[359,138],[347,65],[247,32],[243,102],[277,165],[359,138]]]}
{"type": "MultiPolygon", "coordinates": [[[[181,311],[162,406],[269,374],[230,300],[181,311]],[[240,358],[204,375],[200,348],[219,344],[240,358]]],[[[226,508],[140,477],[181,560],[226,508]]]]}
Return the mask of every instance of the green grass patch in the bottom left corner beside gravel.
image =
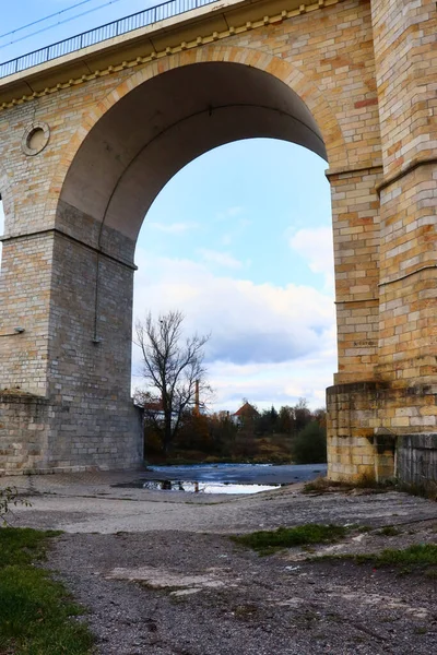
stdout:
{"type": "Polygon", "coordinates": [[[59,533],[0,528],[0,655],[91,655],[93,638],[66,588],[35,565],[59,533]]]}

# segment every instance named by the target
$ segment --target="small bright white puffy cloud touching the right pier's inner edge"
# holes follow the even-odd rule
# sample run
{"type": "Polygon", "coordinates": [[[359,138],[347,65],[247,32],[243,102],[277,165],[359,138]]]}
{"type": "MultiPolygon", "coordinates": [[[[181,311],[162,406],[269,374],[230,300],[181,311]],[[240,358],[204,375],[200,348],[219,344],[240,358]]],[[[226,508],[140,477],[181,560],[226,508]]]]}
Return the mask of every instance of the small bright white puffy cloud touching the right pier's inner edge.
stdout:
{"type": "Polygon", "coordinates": [[[292,250],[298,252],[308,261],[314,273],[324,276],[327,289],[334,286],[334,260],[332,246],[332,228],[304,228],[290,238],[292,250]]]}

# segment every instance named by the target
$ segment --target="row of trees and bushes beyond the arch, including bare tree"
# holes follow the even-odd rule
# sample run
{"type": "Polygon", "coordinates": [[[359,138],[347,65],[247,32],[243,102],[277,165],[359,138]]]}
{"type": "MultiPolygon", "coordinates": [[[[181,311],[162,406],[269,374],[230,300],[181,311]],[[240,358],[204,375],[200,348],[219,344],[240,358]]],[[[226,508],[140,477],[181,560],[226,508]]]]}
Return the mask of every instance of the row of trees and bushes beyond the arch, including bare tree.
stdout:
{"type": "Polygon", "coordinates": [[[305,398],[261,412],[246,402],[238,418],[228,412],[208,414],[203,348],[210,336],[184,337],[182,322],[181,312],[170,311],[157,321],[149,313],[135,326],[146,384],[135,392],[135,402],[143,408],[146,456],[326,461],[326,413],[311,410],[305,398]]]}

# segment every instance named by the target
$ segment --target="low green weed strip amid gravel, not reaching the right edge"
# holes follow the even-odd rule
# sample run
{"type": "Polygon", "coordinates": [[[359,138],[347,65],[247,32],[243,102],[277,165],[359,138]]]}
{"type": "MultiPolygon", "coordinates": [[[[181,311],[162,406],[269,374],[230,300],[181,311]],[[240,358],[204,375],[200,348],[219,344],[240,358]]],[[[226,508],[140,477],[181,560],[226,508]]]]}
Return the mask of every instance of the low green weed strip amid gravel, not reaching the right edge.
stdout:
{"type": "Polygon", "coordinates": [[[347,528],[342,525],[320,525],[309,523],[297,527],[279,527],[274,531],[260,531],[249,535],[232,537],[236,544],[241,544],[269,555],[293,546],[310,546],[312,544],[333,544],[343,538],[347,528]]]}

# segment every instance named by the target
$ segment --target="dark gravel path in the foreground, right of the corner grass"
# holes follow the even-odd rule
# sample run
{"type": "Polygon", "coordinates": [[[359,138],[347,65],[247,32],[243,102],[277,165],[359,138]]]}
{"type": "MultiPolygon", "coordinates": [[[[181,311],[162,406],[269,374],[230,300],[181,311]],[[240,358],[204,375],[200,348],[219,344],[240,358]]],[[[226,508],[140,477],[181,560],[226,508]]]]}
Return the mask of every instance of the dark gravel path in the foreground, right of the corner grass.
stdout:
{"type": "Polygon", "coordinates": [[[50,558],[103,655],[430,655],[435,581],[260,558],[216,535],[68,535],[50,558]]]}

